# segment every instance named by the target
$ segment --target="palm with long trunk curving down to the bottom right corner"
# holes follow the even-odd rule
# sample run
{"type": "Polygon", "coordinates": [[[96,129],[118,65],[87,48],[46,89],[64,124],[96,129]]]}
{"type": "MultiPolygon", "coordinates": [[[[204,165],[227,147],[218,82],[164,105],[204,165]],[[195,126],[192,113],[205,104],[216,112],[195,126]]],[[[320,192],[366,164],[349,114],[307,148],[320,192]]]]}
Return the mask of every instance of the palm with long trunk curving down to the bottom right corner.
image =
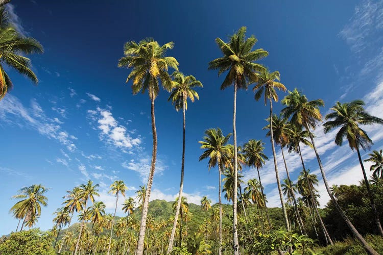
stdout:
{"type": "Polygon", "coordinates": [[[318,160],[319,169],[322,174],[322,179],[326,187],[327,193],[330,196],[334,206],[337,208],[343,220],[346,222],[350,231],[354,236],[362,243],[363,247],[369,254],[377,254],[377,252],[366,242],[361,234],[356,230],[354,225],[348,219],[347,215],[344,213],[342,208],[339,206],[338,201],[332,195],[330,186],[328,185],[326,174],[323,169],[321,159],[319,157],[317,147],[314,143],[314,136],[310,132],[310,129],[315,129],[317,122],[322,120],[322,115],[319,111],[320,106],[324,106],[322,99],[316,99],[308,101],[305,95],[302,95],[297,89],[294,89],[292,92],[289,91],[289,95],[285,96],[282,100],[282,104],[286,107],[282,109],[281,113],[284,117],[289,118],[291,116],[291,122],[300,126],[304,126],[305,129],[309,132],[309,137],[311,143],[313,144],[313,149],[318,160]]]}

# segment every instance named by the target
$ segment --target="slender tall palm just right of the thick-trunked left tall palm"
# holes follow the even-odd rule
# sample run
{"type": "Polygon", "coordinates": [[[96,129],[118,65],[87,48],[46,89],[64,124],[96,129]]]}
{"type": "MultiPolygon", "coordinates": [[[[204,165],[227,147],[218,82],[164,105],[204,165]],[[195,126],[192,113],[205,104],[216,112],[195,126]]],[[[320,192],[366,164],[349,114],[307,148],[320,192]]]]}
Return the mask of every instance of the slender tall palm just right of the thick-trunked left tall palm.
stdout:
{"type": "Polygon", "coordinates": [[[181,208],[181,197],[183,190],[183,175],[184,175],[184,165],[185,165],[185,127],[186,127],[186,110],[187,110],[187,98],[190,101],[194,102],[194,98],[199,99],[197,91],[194,90],[196,87],[203,87],[200,81],[193,75],[185,75],[182,72],[175,71],[171,75],[173,77],[172,81],[172,92],[169,96],[169,101],[172,100],[172,104],[175,106],[176,110],[183,111],[183,132],[182,132],[182,160],[181,160],[181,181],[180,181],[180,190],[178,193],[178,205],[176,210],[176,215],[174,217],[172,235],[169,240],[169,246],[167,247],[167,253],[171,253],[173,249],[174,235],[176,233],[178,215],[181,208]]]}

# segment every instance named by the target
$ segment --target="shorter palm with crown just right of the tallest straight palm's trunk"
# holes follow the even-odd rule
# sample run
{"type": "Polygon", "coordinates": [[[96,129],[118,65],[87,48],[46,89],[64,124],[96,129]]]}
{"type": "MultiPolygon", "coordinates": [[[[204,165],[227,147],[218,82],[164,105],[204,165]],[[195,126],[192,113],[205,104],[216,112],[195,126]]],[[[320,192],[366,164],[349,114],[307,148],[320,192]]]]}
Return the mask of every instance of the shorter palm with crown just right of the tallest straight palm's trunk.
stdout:
{"type": "MultiPolygon", "coordinates": [[[[269,213],[268,213],[267,205],[266,205],[266,196],[265,196],[264,187],[262,186],[262,182],[260,180],[260,174],[259,174],[259,169],[262,168],[262,166],[265,164],[265,160],[269,160],[268,157],[264,154],[264,149],[265,149],[264,145],[265,143],[263,143],[261,140],[250,139],[247,143],[245,143],[243,151],[246,157],[247,165],[249,167],[255,167],[257,169],[259,186],[262,193],[262,200],[265,206],[265,212],[266,212],[267,221],[269,223],[269,228],[271,229],[269,213]]],[[[261,212],[262,212],[262,209],[261,209],[261,212]]]]}

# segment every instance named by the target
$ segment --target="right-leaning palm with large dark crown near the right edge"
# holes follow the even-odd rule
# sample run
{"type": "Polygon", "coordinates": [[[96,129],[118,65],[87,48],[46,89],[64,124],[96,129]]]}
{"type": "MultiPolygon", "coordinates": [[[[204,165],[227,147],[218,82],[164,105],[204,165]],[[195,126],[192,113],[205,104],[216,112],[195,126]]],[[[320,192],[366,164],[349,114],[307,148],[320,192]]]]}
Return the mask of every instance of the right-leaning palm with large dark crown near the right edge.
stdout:
{"type": "Polygon", "coordinates": [[[383,229],[381,228],[379,215],[376,211],[374,198],[367,179],[366,170],[363,165],[361,152],[359,151],[359,148],[366,150],[366,148],[370,147],[370,145],[373,144],[366,131],[362,130],[360,126],[383,124],[383,119],[371,116],[364,109],[364,105],[365,103],[362,100],[354,100],[350,103],[344,104],[337,102],[337,104],[331,108],[332,112],[327,114],[325,117],[328,121],[323,124],[324,133],[328,133],[329,131],[336,129],[337,127],[341,127],[341,129],[336,135],[335,143],[341,146],[343,143],[343,139],[347,138],[348,144],[350,145],[351,149],[356,150],[359,163],[361,164],[363,177],[366,183],[367,194],[370,198],[375,223],[378,228],[379,234],[383,236],[383,229]]]}

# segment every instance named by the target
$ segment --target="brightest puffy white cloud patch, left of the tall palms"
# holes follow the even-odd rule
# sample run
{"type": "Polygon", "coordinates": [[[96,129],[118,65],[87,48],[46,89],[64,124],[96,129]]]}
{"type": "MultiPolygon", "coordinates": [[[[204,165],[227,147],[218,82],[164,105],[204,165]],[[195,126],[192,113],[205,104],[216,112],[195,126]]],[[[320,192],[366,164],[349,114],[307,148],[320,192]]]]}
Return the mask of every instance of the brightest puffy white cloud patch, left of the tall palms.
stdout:
{"type": "Polygon", "coordinates": [[[140,136],[132,138],[126,127],[120,125],[109,110],[97,108],[97,111],[87,112],[92,121],[97,121],[97,127],[101,130],[101,140],[121,149],[131,149],[141,143],[140,136]]]}

